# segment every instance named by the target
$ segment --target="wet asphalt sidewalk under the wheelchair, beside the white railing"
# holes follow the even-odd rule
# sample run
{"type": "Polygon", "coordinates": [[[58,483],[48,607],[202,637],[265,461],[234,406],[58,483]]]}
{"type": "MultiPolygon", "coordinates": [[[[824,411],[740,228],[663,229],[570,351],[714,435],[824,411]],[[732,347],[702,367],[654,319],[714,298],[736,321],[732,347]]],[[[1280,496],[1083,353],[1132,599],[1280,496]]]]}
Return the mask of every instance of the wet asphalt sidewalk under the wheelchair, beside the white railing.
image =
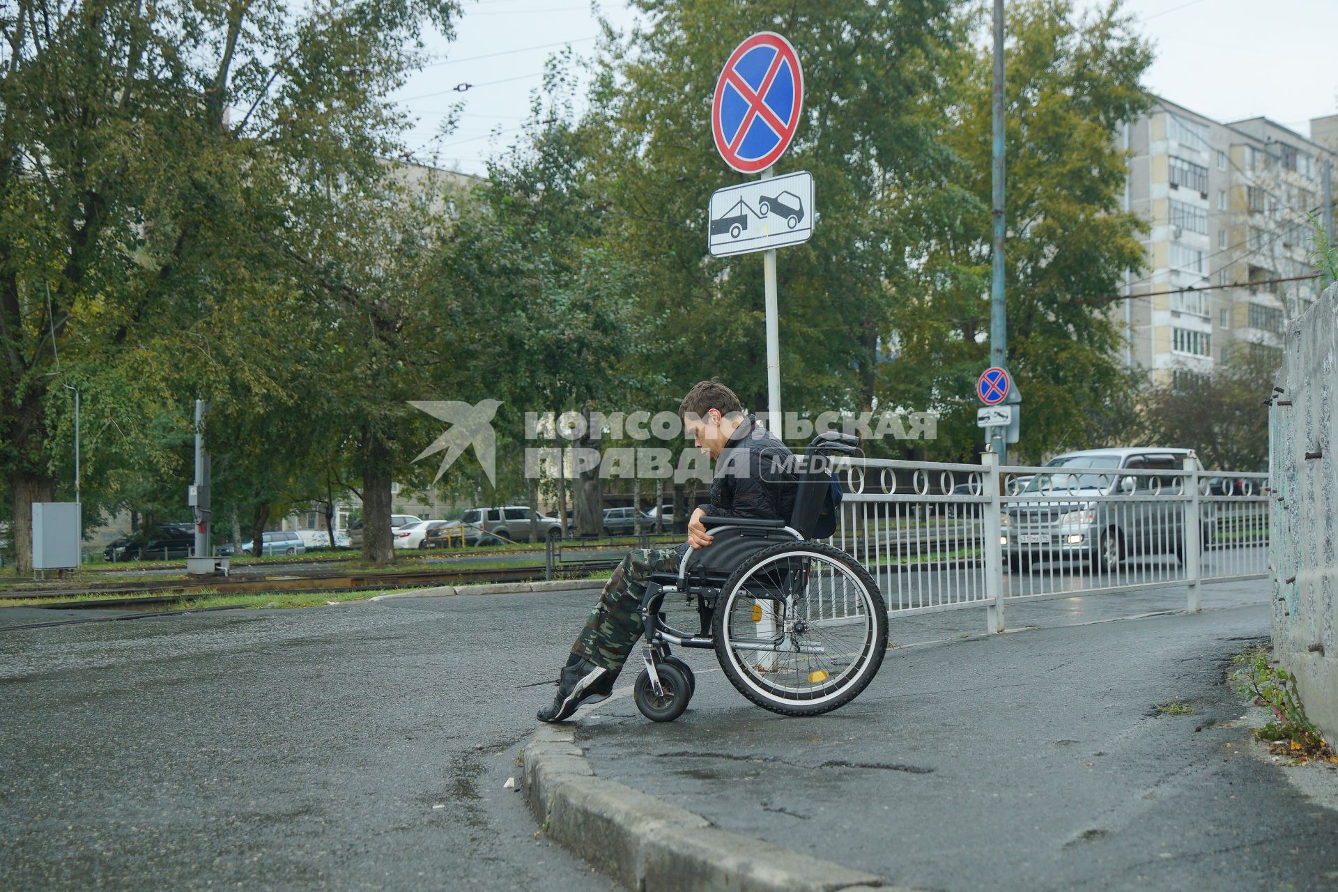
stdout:
{"type": "Polygon", "coordinates": [[[989,637],[978,608],[894,617],[871,686],[815,718],[678,650],[697,673],[678,721],[645,719],[624,678],[577,740],[598,774],[915,888],[1331,891],[1338,772],[1274,765],[1223,683],[1268,634],[1266,586],[1208,586],[1196,615],[1164,612],[1183,590],[1016,603],[1032,629],[989,637]],[[1177,697],[1193,714],[1153,707],[1177,697]]]}

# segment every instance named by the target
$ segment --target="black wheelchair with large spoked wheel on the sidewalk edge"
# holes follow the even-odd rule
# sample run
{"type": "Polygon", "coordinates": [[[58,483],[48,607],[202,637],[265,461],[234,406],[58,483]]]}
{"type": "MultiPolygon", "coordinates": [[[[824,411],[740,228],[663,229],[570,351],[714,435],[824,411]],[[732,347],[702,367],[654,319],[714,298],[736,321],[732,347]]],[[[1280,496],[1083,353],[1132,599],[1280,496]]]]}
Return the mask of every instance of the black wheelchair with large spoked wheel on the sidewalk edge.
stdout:
{"type": "Polygon", "coordinates": [[[672,722],[696,691],[692,669],[670,645],[716,651],[725,677],[749,701],[781,715],[818,715],[855,699],[887,651],[887,608],[868,571],[812,536],[836,456],[858,440],[826,432],[797,459],[789,520],[702,518],[712,544],[689,548],[677,574],[653,574],[641,600],[645,669],[637,709],[672,722]],[[696,602],[698,633],[665,623],[664,599],[696,602]]]}

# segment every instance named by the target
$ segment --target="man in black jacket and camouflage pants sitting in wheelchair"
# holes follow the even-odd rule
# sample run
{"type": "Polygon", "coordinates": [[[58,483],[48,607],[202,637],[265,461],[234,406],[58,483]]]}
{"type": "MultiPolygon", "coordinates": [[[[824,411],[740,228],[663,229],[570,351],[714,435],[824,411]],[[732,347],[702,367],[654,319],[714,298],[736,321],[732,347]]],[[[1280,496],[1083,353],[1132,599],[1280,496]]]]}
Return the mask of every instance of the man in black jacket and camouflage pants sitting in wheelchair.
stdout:
{"type": "Polygon", "coordinates": [[[793,511],[792,453],[755,416],[744,415],[733,391],[714,378],[700,381],[682,399],[678,416],[697,448],[716,461],[710,504],[692,512],[686,543],[629,551],[613,571],[571,645],[553,705],[538,711],[542,722],[561,722],[583,703],[613,691],[613,682],[644,631],[641,599],[646,584],[653,574],[677,572],[689,548],[710,546],[704,516],[780,520],[793,511]]]}

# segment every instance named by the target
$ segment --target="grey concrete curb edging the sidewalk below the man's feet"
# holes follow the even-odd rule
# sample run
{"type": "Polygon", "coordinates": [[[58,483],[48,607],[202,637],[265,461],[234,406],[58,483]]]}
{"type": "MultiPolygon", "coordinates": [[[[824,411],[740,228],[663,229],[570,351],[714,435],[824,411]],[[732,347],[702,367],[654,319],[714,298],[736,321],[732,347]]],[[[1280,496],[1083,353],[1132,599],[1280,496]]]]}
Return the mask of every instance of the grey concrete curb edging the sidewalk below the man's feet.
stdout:
{"type": "Polygon", "coordinates": [[[542,832],[636,892],[910,892],[883,885],[872,873],[723,830],[597,777],[570,726],[541,726],[520,758],[524,797],[542,832]]]}

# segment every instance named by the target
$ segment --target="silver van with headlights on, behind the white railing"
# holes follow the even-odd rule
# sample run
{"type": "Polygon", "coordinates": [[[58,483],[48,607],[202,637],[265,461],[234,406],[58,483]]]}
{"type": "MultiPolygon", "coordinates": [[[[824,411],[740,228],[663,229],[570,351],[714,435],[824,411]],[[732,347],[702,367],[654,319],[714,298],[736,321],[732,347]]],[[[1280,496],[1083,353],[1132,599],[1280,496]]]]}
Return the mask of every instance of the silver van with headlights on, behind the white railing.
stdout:
{"type": "MultiPolygon", "coordinates": [[[[1085,500],[1098,496],[1152,496],[1171,492],[1173,476],[1121,475],[1128,471],[1180,471],[1189,449],[1086,449],[1056,456],[1004,512],[1002,544],[1009,566],[1032,560],[1084,559],[1108,572],[1132,555],[1184,554],[1181,511],[1152,500],[1085,500]],[[1086,471],[1090,469],[1090,471],[1086,471]],[[1032,497],[1036,497],[1034,500],[1032,497]]],[[[1198,459],[1195,460],[1198,461],[1198,459]]],[[[1202,471],[1202,465],[1200,465],[1202,471]]],[[[1203,536],[1212,536],[1212,507],[1204,511],[1203,536]]]]}

